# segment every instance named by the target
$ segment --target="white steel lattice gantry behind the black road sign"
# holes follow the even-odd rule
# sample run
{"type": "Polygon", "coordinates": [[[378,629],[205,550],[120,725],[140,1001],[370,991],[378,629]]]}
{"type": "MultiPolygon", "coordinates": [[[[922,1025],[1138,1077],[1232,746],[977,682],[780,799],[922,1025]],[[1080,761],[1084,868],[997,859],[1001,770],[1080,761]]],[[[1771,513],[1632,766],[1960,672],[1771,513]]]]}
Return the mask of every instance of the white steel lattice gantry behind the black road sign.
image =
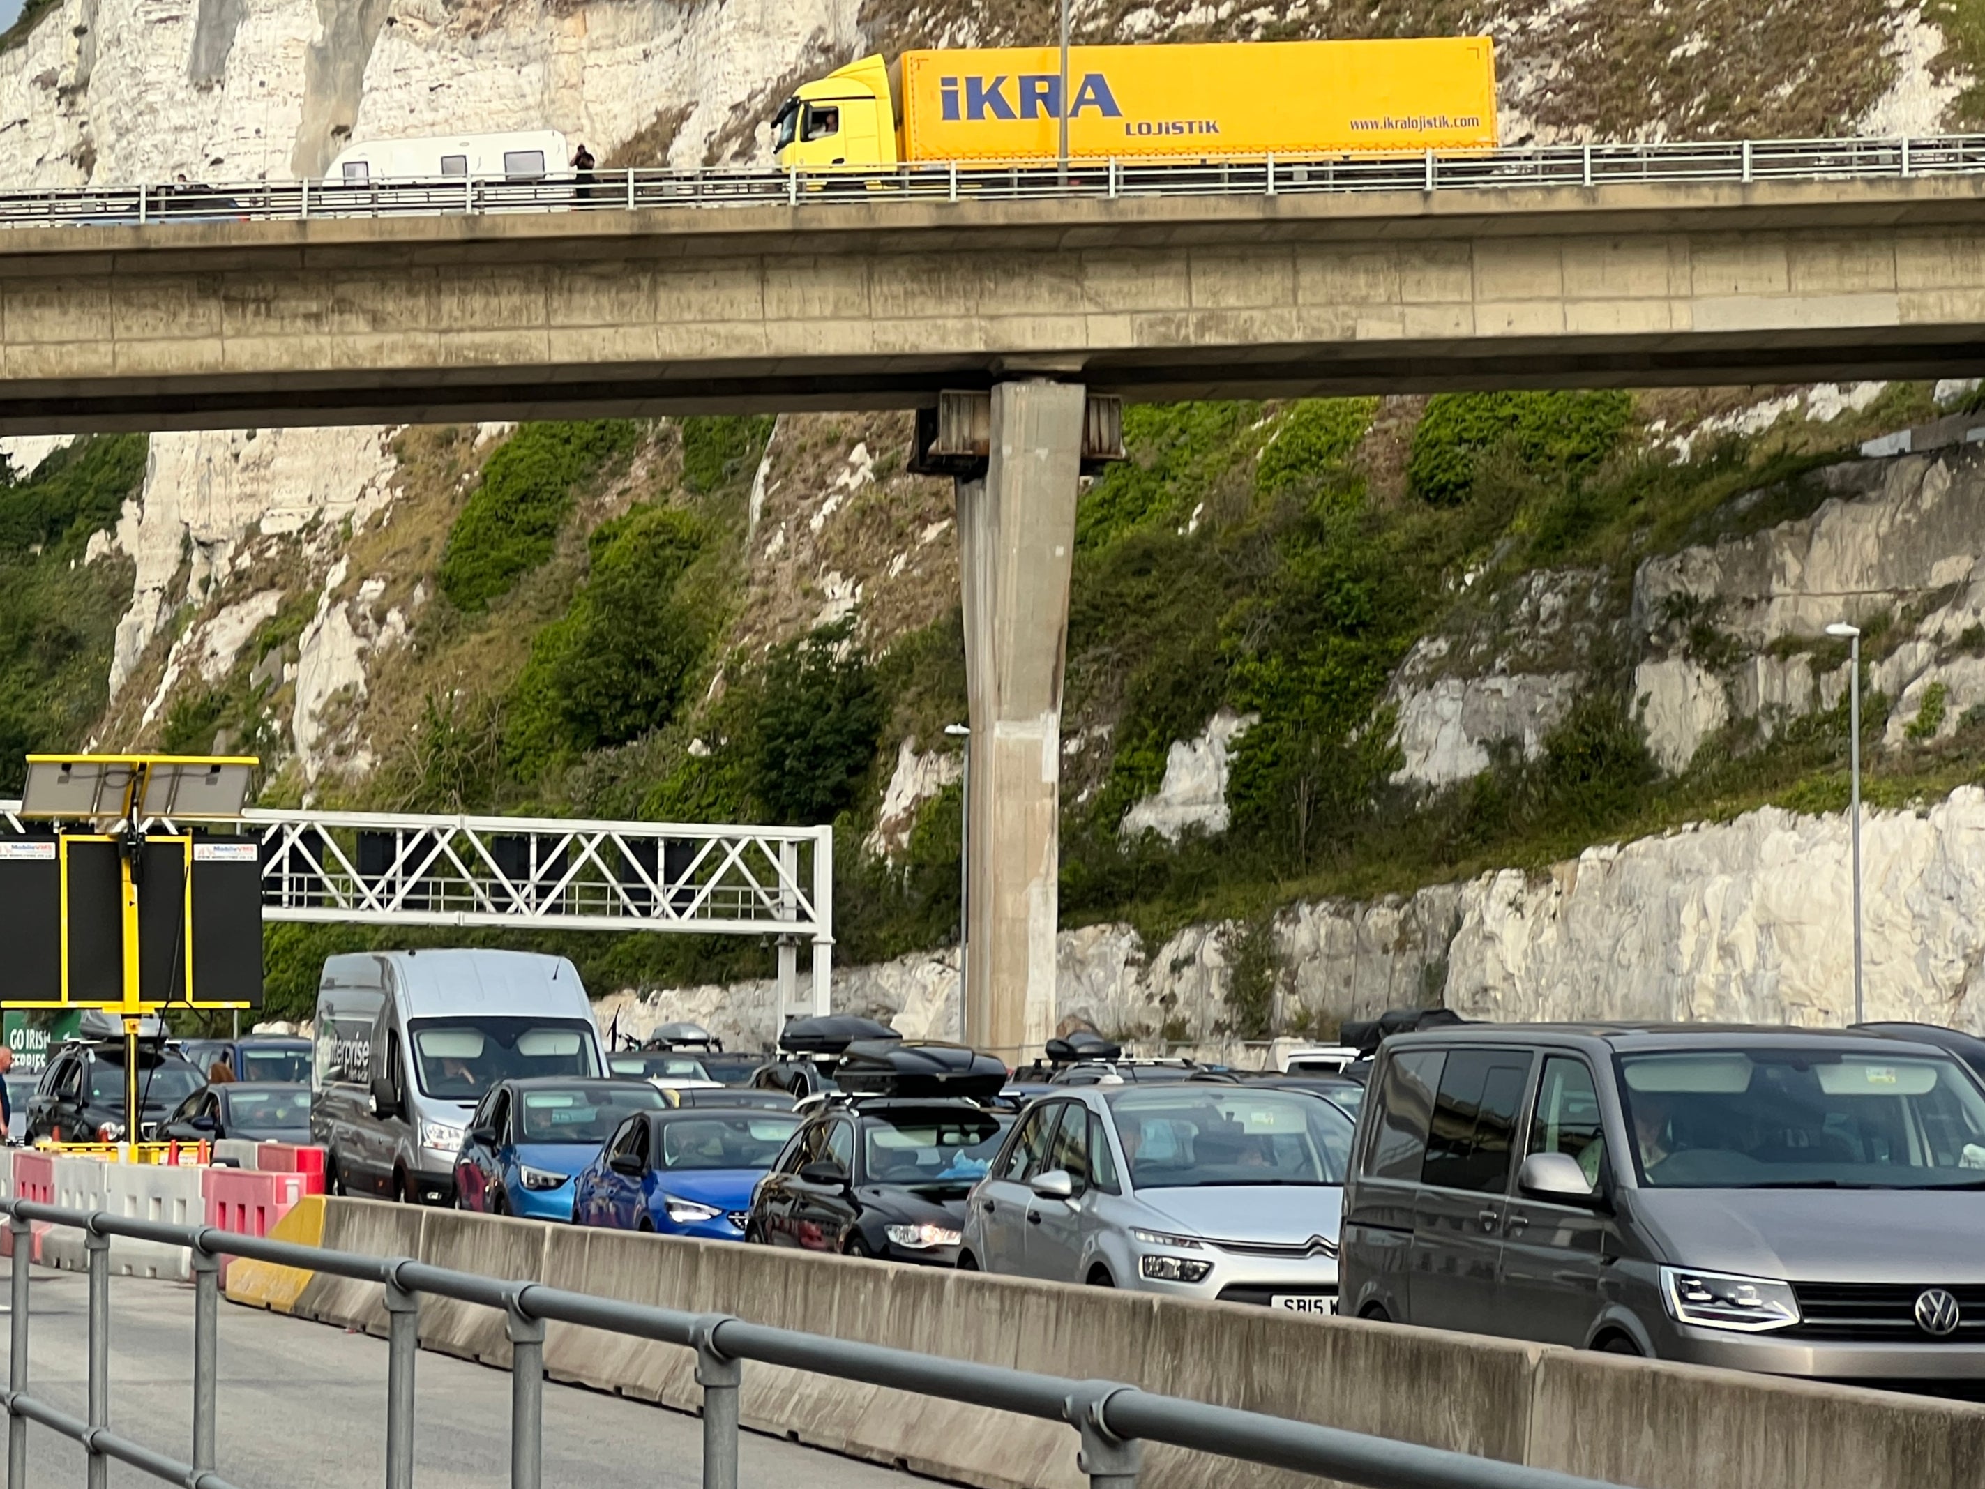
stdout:
{"type": "MultiPolygon", "coordinates": [[[[48,830],[16,808],[8,832],[48,830]]],[[[834,828],[250,808],[240,832],[260,840],[264,921],[768,935],[780,1013],[828,1013],[834,828]]]]}

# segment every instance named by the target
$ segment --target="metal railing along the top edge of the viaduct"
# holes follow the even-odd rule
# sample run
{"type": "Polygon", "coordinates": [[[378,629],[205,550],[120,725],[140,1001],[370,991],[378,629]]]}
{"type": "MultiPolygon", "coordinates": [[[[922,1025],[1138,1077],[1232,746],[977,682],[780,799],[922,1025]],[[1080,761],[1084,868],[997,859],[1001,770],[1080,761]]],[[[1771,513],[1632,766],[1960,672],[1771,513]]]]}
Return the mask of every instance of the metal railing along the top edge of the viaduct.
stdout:
{"type": "Polygon", "coordinates": [[[1906,181],[1985,175],[1985,135],[1890,139],[1711,139],[1538,145],[1459,155],[1251,155],[1181,163],[1078,159],[1060,165],[915,163],[887,169],[637,169],[532,179],[419,177],[0,191],[0,226],[504,212],[770,206],[863,201],[1080,201],[1122,197],[1302,197],[1513,187],[1906,181]]]}

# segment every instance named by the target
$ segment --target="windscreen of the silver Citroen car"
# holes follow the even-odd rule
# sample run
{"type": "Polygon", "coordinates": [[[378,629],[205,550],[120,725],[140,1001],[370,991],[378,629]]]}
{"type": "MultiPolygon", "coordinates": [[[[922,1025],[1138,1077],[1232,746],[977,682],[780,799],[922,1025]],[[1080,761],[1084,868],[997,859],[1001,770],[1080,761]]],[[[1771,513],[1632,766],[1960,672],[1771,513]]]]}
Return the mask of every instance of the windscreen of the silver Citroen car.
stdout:
{"type": "Polygon", "coordinates": [[[1314,1096],[1163,1086],[1110,1098],[1135,1189],[1344,1183],[1352,1122],[1314,1096]]]}

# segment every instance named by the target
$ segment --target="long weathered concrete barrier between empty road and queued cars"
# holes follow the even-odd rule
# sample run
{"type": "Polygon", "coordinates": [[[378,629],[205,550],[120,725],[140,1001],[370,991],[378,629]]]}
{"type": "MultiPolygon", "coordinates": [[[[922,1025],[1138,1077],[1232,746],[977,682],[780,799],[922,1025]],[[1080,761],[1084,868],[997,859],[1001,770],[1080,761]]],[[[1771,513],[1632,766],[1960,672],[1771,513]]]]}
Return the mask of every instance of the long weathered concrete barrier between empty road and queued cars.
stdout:
{"type": "MultiPolygon", "coordinates": [[[[324,1245],[1239,1406],[1534,1463],[1640,1489],[1985,1483],[1985,1408],[1697,1366],[1197,1304],[1131,1292],[326,1201],[324,1245]]],[[[294,1312],[385,1332],[379,1288],[322,1273],[294,1312]]],[[[502,1320],[423,1302],[423,1342],[508,1360],[502,1320]]],[[[695,1410],[689,1350],[554,1324],[546,1370],[695,1410]]],[[[1072,1429],[744,1370],[746,1425],[987,1489],[1078,1489],[1072,1429]]],[[[1147,1489],[1296,1489],[1316,1479],[1155,1447],[1147,1489]]]]}

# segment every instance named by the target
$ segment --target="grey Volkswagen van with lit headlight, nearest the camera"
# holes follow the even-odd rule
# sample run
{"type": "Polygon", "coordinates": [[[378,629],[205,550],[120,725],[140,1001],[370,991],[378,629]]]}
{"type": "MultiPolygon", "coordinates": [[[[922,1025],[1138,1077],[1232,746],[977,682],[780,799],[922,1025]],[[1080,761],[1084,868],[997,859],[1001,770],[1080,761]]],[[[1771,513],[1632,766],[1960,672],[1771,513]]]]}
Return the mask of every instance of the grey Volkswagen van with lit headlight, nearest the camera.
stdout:
{"type": "Polygon", "coordinates": [[[1985,1088],[1866,1032],[1386,1040],[1342,1310],[1870,1384],[1985,1386],[1985,1088]]]}

